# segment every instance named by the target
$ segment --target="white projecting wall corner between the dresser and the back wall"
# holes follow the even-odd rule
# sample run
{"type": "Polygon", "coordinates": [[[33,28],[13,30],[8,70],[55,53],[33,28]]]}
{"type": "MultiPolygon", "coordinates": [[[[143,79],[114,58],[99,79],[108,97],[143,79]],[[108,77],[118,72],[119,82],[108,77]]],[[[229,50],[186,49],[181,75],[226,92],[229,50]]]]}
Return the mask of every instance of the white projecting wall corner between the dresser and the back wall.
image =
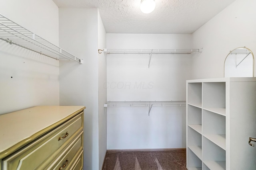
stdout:
{"type": "Polygon", "coordinates": [[[86,106],[84,169],[101,169],[102,156],[106,153],[102,104],[106,89],[101,88],[106,79],[106,61],[98,55],[98,45],[105,44],[105,30],[96,8],[60,8],[59,16],[60,47],[84,59],[84,64],[60,61],[60,105],[86,106]],[[105,144],[99,147],[102,143],[105,144]]]}

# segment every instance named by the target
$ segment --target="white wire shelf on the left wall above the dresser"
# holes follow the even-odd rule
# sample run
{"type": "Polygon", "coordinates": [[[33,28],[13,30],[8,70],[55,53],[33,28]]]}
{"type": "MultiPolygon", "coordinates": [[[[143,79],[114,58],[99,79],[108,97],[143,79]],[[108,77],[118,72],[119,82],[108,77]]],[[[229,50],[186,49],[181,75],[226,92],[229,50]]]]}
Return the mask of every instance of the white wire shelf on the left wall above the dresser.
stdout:
{"type": "Polygon", "coordinates": [[[53,59],[74,60],[78,63],[83,63],[82,59],[75,57],[42,37],[28,31],[2,14],[0,14],[0,39],[53,59]]]}

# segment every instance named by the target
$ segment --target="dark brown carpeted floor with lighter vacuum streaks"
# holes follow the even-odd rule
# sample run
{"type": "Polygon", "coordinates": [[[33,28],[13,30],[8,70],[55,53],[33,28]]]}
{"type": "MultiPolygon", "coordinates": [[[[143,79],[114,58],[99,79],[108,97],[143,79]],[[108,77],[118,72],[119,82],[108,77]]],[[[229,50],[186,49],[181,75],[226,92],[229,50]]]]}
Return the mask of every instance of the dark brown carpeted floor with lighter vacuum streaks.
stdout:
{"type": "Polygon", "coordinates": [[[187,170],[186,150],[107,152],[103,170],[187,170]]]}

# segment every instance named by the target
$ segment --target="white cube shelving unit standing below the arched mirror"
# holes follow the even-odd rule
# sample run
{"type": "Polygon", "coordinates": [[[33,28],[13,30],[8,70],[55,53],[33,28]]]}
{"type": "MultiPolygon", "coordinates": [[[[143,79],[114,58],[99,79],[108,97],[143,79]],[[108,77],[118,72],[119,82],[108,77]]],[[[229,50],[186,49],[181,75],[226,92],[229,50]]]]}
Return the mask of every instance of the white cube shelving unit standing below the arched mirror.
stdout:
{"type": "Polygon", "coordinates": [[[255,170],[256,78],[187,80],[187,169],[255,170]]]}

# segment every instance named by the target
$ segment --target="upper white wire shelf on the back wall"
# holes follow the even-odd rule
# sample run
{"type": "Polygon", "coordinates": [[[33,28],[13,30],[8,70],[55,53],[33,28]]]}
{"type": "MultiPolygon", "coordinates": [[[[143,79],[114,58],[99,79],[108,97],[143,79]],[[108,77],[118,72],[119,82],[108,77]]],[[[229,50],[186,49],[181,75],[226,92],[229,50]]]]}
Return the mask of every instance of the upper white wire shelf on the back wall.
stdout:
{"type": "Polygon", "coordinates": [[[104,49],[107,54],[191,54],[202,49],[104,49]]]}

